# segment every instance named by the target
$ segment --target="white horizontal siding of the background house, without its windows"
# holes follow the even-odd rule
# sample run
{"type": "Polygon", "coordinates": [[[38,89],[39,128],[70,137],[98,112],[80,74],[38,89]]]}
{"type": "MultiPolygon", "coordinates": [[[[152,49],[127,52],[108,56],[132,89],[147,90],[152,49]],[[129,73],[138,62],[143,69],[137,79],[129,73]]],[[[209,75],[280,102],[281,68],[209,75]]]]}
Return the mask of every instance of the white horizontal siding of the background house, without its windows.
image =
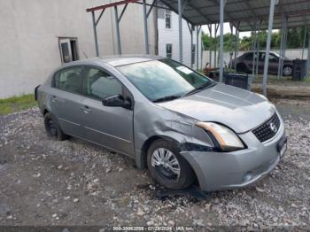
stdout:
{"type": "MultiPolygon", "coordinates": [[[[159,9],[159,11],[165,11],[163,9],[159,9]]],[[[179,17],[176,13],[171,12],[171,28],[166,28],[166,20],[158,19],[158,28],[159,28],[159,56],[166,57],[166,44],[172,43],[173,52],[172,58],[175,60],[179,60],[179,17]]],[[[183,38],[183,64],[186,66],[190,66],[191,59],[191,49],[190,49],[190,30],[187,25],[187,22],[182,19],[182,38],[183,38]]],[[[193,32],[193,44],[197,43],[197,31],[193,32]]],[[[200,68],[200,60],[201,60],[201,31],[198,40],[198,66],[200,68]]],[[[196,68],[196,55],[195,55],[195,65],[196,68]]]]}

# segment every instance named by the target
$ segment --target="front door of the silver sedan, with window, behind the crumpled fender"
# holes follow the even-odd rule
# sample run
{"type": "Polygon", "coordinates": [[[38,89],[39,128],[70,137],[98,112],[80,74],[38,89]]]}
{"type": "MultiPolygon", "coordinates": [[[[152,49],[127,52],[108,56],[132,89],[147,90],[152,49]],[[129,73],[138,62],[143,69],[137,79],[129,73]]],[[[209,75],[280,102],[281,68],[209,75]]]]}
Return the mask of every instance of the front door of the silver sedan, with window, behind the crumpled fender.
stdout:
{"type": "Polygon", "coordinates": [[[102,104],[105,97],[129,96],[128,90],[111,73],[96,66],[85,66],[83,82],[86,138],[113,150],[134,154],[133,110],[102,104]]]}

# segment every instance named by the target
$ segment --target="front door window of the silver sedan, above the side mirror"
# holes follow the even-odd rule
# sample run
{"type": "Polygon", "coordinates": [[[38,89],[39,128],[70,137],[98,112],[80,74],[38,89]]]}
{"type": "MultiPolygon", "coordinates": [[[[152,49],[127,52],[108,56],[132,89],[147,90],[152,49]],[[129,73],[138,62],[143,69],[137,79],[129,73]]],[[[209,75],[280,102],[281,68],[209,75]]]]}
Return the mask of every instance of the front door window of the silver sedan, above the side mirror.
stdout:
{"type": "Polygon", "coordinates": [[[122,94],[120,81],[111,74],[93,67],[86,67],[85,73],[84,93],[86,96],[101,100],[105,97],[122,94]]]}

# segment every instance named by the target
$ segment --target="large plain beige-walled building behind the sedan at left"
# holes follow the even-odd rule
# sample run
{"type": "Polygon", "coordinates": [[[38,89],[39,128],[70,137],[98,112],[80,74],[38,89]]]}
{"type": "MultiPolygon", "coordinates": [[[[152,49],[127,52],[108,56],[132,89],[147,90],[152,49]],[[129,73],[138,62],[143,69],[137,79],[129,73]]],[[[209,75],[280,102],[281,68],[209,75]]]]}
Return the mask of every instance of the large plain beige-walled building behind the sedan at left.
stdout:
{"type": "MultiPolygon", "coordinates": [[[[91,13],[86,9],[111,2],[0,0],[0,98],[32,93],[66,60],[95,57],[91,13]]],[[[119,8],[120,13],[123,6],[119,8]]],[[[97,26],[100,56],[117,53],[112,10],[105,10],[97,26]]],[[[154,15],[151,12],[148,20],[151,54],[157,46],[154,15]]],[[[144,53],[143,32],[142,5],[128,4],[120,21],[124,54],[144,53]]]]}

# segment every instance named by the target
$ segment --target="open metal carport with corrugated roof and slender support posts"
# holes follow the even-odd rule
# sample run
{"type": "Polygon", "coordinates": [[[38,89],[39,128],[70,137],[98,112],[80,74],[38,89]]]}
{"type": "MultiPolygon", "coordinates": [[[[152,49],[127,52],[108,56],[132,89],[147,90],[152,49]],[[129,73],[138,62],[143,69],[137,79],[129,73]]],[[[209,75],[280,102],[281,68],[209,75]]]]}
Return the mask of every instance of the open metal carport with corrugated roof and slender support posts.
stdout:
{"type": "MultiPolygon", "coordinates": [[[[142,3],[138,0],[124,0],[112,4],[105,4],[87,9],[92,12],[95,44],[97,48],[97,23],[106,8],[114,7],[115,25],[117,30],[117,39],[119,54],[120,48],[120,30],[118,25],[121,16],[129,3],[143,4],[143,21],[145,36],[145,53],[148,54],[148,28],[147,18],[152,8],[158,7],[153,0],[152,4],[142,3]],[[118,15],[118,5],[125,4],[120,16],[118,15]],[[147,10],[147,6],[149,10],[147,10]],[[101,11],[98,19],[95,19],[95,12],[101,11]]],[[[220,81],[223,79],[223,23],[230,22],[238,31],[258,31],[267,29],[267,48],[265,57],[265,66],[263,74],[263,93],[267,94],[267,67],[269,60],[270,41],[272,29],[295,27],[306,25],[309,22],[310,1],[309,0],[160,0],[166,4],[169,9],[179,14],[179,50],[180,61],[182,62],[182,18],[187,20],[192,26],[202,26],[210,24],[220,24],[220,81]],[[275,24],[274,24],[275,18],[275,24]],[[285,24],[283,24],[283,19],[285,24]],[[259,23],[260,22],[260,23],[259,23]],[[258,28],[259,24],[259,28],[258,28]]],[[[285,36],[285,35],[284,35],[285,36]]],[[[282,42],[282,45],[285,41],[282,42]]],[[[309,43],[310,44],[310,43],[309,43]]],[[[254,47],[256,48],[255,44],[254,47]]],[[[310,46],[309,46],[310,50],[310,46]]],[[[309,56],[308,52],[308,56],[309,56]]],[[[98,55],[98,51],[97,51],[98,55]]],[[[309,59],[308,69],[309,70],[309,59]]]]}

